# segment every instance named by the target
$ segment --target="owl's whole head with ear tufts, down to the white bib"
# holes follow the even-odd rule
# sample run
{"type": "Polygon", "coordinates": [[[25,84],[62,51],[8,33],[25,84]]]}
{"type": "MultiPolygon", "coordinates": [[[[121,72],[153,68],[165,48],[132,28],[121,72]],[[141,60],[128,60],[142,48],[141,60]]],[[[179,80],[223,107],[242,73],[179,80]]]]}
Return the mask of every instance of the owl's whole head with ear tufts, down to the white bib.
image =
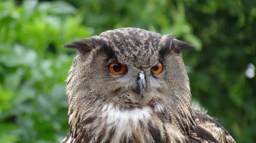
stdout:
{"type": "Polygon", "coordinates": [[[190,100],[180,52],[193,46],[173,35],[119,28],[65,47],[78,50],[67,79],[70,109],[104,104],[130,109],[190,100]]]}

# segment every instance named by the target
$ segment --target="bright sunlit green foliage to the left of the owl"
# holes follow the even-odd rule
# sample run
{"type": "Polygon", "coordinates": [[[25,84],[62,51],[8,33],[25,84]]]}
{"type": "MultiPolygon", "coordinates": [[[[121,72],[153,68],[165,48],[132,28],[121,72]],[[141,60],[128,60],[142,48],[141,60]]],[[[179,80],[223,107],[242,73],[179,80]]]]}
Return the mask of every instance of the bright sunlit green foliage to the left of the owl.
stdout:
{"type": "Polygon", "coordinates": [[[62,45],[91,34],[66,2],[6,1],[0,10],[0,142],[60,142],[74,58],[62,45]]]}

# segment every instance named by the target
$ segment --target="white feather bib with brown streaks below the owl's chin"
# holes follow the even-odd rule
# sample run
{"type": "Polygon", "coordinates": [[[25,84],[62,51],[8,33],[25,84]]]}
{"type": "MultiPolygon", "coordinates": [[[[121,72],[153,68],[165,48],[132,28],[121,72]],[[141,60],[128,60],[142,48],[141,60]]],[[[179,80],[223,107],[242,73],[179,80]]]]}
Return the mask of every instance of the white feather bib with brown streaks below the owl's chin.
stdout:
{"type": "MultiPolygon", "coordinates": [[[[130,142],[131,139],[136,138],[141,141],[134,140],[135,142],[151,142],[143,138],[146,136],[147,124],[152,120],[152,114],[153,110],[149,106],[120,110],[108,105],[103,107],[99,115],[102,123],[98,124],[99,128],[96,130],[104,130],[102,142],[107,140],[111,140],[110,142],[130,142]]],[[[95,134],[95,136],[100,135],[95,134]]]]}

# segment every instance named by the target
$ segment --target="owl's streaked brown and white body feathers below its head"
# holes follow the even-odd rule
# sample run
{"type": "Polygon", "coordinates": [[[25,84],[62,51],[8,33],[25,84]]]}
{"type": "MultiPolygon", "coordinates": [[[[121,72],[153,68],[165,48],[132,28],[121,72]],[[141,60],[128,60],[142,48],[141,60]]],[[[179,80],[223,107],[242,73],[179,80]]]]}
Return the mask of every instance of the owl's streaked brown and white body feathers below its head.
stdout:
{"type": "Polygon", "coordinates": [[[98,113],[88,112],[82,118],[76,113],[80,120],[71,121],[72,128],[62,143],[235,142],[218,122],[200,111],[193,110],[196,117],[192,125],[184,123],[186,120],[166,120],[156,110],[150,106],[120,110],[109,104],[98,113]]]}

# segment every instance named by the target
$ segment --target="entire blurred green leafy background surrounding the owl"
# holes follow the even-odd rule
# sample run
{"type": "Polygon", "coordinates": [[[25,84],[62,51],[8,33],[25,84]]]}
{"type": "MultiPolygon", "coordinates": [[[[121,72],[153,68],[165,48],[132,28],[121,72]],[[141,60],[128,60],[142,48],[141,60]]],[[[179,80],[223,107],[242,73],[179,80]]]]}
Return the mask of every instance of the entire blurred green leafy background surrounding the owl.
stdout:
{"type": "Polygon", "coordinates": [[[63,44],[139,27],[183,51],[193,100],[237,142],[256,142],[256,1],[0,1],[0,142],[60,142],[68,133],[63,44]]]}

